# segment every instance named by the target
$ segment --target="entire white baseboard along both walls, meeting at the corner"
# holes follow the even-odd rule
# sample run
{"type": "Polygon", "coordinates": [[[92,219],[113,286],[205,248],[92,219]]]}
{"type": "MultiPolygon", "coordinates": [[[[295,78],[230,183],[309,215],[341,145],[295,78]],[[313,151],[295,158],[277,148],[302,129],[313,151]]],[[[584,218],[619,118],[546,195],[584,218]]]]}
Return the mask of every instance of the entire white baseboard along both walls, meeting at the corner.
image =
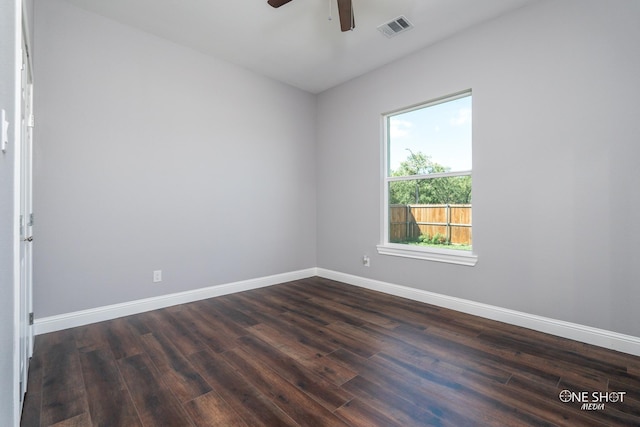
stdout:
{"type": "Polygon", "coordinates": [[[76,326],[88,325],[90,323],[102,322],[105,320],[116,319],[118,317],[143,313],[145,311],[170,307],[172,305],[185,304],[188,302],[228,295],[236,292],[263,288],[313,276],[320,276],[350,285],[384,292],[390,295],[433,304],[439,307],[449,308],[463,313],[473,314],[475,316],[497,320],[511,325],[522,326],[535,331],[640,356],[640,338],[631,335],[624,335],[604,329],[579,325],[577,323],[536,316],[462,298],[450,297],[407,286],[395,285],[360,276],[339,273],[337,271],[326,270],[323,268],[308,268],[306,270],[276,274],[273,276],[243,280],[240,282],[227,283],[224,285],[211,286],[208,288],[195,289],[170,295],[162,295],[159,297],[131,301],[122,304],[108,305],[90,310],[44,317],[36,319],[34,322],[34,333],[36,335],[40,335],[48,332],[60,331],[63,329],[74,328],[76,326]]]}

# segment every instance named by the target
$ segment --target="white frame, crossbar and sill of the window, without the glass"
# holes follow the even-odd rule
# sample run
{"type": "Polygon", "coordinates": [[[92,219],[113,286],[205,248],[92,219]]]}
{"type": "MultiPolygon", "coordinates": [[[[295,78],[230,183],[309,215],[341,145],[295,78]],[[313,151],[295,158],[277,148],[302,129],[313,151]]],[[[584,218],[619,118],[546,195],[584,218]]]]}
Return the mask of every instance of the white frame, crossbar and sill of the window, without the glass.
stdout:
{"type": "MultiPolygon", "coordinates": [[[[462,251],[454,249],[441,249],[430,246],[414,246],[401,243],[389,242],[389,183],[393,181],[433,179],[452,176],[471,176],[473,183],[473,171],[456,171],[446,173],[434,173],[428,175],[412,175],[409,177],[392,177],[389,176],[389,118],[398,114],[414,111],[421,108],[428,108],[434,105],[442,104],[456,99],[472,96],[471,90],[465,90],[452,95],[443,96],[432,101],[420,103],[400,110],[390,111],[382,115],[382,224],[380,243],[377,245],[380,255],[391,255],[404,258],[413,258],[427,261],[445,262],[450,264],[474,266],[478,262],[478,256],[475,254],[473,246],[472,251],[462,251]]],[[[472,111],[473,114],[473,111],[472,111]]],[[[473,185],[473,184],[472,184],[473,185]]]]}

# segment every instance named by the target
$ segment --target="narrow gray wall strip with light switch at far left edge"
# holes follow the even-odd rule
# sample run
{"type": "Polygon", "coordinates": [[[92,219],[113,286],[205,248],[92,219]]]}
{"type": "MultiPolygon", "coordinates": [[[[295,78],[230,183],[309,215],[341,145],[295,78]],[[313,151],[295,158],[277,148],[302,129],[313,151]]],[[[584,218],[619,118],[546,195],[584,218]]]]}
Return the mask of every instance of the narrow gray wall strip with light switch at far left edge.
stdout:
{"type": "Polygon", "coordinates": [[[15,310],[14,310],[14,168],[16,122],[15,104],[15,1],[0,0],[0,108],[7,112],[10,141],[5,154],[0,152],[0,425],[14,425],[15,310]]]}

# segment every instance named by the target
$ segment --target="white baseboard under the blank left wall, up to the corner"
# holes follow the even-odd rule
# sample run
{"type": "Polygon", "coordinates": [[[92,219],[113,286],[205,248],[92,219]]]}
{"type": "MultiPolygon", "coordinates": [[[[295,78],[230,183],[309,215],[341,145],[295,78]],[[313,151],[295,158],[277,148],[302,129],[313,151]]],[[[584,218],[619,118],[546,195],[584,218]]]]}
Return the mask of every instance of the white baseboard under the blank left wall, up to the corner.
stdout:
{"type": "Polygon", "coordinates": [[[226,283],[223,285],[210,286],[207,288],[194,289],[192,291],[179,292],[175,294],[161,295],[153,298],[60,314],[57,316],[43,317],[35,320],[33,325],[34,333],[35,335],[40,335],[48,332],[61,331],[63,329],[117,319],[118,317],[144,313],[145,311],[157,310],[160,308],[170,307],[172,305],[185,304],[188,302],[228,295],[236,292],[263,288],[265,286],[277,285],[279,283],[300,280],[313,276],[317,276],[317,269],[308,268],[306,270],[243,280],[240,282],[226,283]]]}

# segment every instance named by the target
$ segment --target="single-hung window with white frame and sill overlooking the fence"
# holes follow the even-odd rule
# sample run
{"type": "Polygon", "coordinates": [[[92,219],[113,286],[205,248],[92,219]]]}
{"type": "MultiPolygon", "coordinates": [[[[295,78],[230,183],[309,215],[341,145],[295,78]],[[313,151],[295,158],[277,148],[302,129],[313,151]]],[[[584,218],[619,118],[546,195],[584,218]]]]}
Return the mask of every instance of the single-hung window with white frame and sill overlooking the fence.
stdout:
{"type": "Polygon", "coordinates": [[[379,253],[475,265],[471,100],[465,91],[384,116],[379,253]]]}

